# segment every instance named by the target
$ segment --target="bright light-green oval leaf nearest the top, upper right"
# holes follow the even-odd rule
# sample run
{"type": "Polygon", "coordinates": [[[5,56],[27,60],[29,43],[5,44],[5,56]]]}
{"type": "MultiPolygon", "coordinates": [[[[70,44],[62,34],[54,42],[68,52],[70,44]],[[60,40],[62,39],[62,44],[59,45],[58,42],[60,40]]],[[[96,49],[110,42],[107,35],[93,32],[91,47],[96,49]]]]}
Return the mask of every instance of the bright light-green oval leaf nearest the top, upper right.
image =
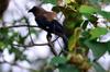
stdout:
{"type": "Polygon", "coordinates": [[[81,5],[79,8],[79,12],[80,13],[88,13],[88,14],[94,14],[95,12],[97,12],[97,9],[90,7],[90,5],[81,5]]]}

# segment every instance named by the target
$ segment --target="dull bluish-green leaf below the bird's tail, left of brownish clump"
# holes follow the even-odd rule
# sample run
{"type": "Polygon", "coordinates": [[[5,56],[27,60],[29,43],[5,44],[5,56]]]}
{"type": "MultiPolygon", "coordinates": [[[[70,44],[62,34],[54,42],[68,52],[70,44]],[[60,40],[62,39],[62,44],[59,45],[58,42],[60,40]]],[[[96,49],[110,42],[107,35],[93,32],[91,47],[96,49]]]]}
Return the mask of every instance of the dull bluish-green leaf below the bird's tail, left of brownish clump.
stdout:
{"type": "Polygon", "coordinates": [[[54,57],[51,61],[51,64],[63,64],[66,62],[67,62],[67,59],[65,57],[54,57]]]}

